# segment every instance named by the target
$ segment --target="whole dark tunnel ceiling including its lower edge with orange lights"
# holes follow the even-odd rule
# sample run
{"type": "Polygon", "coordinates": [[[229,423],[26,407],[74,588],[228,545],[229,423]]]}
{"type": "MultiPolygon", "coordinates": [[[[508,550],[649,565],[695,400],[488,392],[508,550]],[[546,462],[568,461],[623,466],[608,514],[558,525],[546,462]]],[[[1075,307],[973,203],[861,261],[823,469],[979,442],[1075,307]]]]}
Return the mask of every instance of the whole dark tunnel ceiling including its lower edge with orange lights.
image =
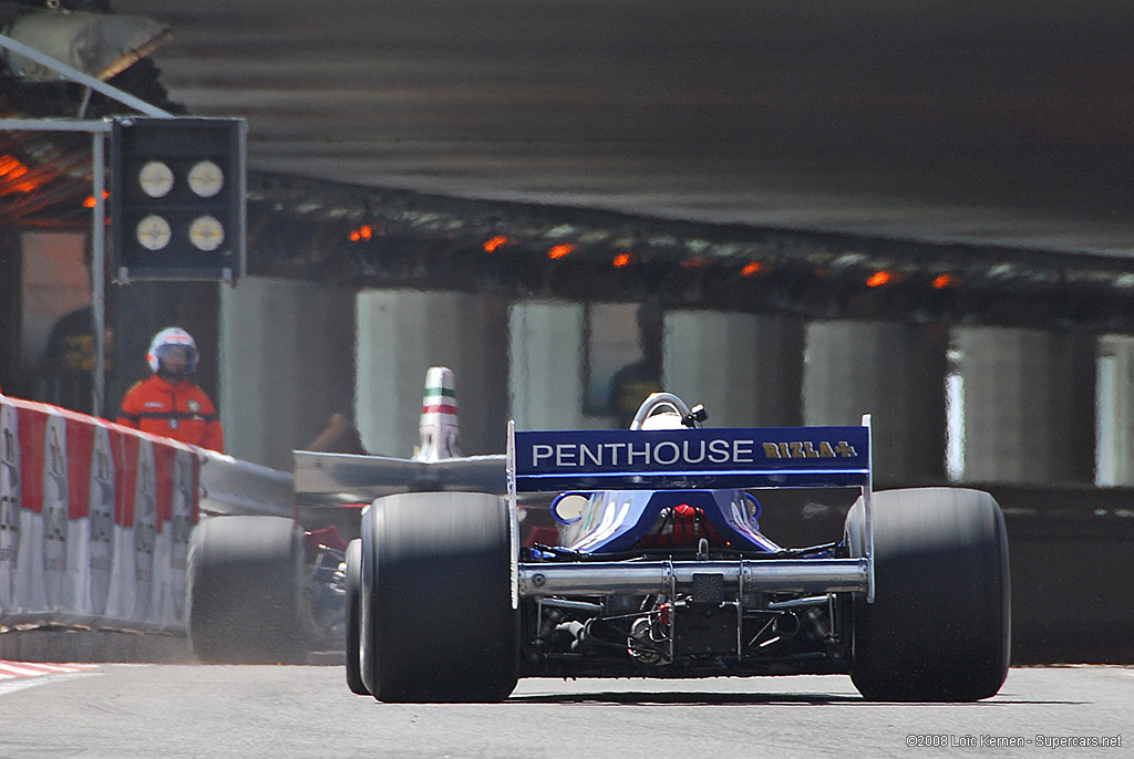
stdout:
{"type": "MultiPolygon", "coordinates": [[[[1134,332],[1134,10],[115,10],[175,42],[112,84],[248,119],[253,274],[1134,332]]],[[[82,94],[2,77],[0,111],[82,94]]],[[[88,161],[82,135],[0,134],[0,224],[87,223],[88,161]]]]}

